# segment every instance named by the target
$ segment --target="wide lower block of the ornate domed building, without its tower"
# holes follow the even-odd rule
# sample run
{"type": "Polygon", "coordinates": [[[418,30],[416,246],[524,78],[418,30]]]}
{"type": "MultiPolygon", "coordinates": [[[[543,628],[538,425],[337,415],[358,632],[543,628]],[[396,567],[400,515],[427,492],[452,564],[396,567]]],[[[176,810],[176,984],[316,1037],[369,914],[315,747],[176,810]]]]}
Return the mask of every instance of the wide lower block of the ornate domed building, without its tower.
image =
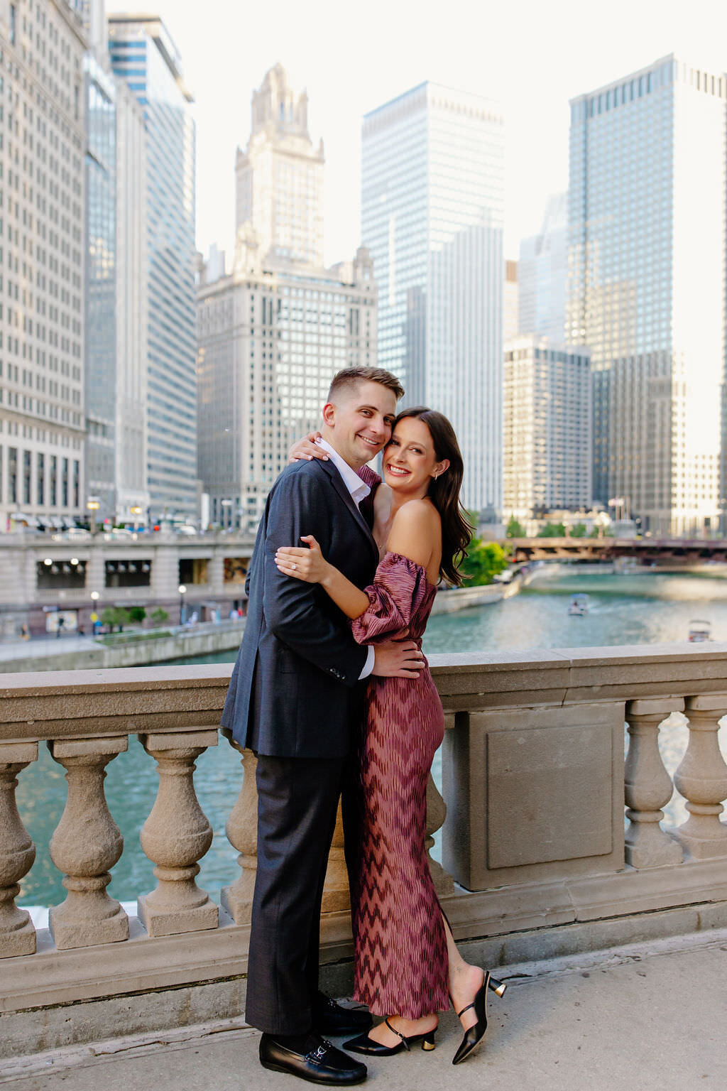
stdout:
{"type": "Polygon", "coordinates": [[[197,293],[199,477],[215,526],[253,529],[294,440],[319,427],[341,368],[376,363],[367,252],[306,275],[267,268],[241,238],[197,293]]]}

